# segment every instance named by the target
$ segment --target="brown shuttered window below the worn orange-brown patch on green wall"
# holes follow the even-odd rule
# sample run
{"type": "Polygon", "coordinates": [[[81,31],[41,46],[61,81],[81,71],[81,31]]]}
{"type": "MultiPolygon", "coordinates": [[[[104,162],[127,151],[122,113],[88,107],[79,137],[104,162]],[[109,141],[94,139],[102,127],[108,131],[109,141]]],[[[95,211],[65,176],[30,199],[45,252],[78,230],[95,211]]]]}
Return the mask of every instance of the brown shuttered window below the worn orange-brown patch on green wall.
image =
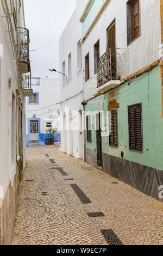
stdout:
{"type": "Polygon", "coordinates": [[[117,127],[117,109],[109,112],[110,114],[110,137],[111,147],[118,147],[118,127],[117,127]]]}

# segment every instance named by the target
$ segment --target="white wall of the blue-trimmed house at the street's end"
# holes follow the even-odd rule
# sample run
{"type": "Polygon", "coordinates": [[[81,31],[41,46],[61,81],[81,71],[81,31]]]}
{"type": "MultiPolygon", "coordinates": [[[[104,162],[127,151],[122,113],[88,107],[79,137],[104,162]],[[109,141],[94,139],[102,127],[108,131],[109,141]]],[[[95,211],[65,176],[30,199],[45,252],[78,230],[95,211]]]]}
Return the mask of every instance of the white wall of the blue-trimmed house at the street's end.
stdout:
{"type": "MultiPolygon", "coordinates": [[[[36,78],[32,78],[32,84],[36,83],[36,78]]],[[[57,78],[39,78],[40,85],[32,86],[33,93],[39,93],[39,105],[29,105],[28,99],[26,103],[26,130],[28,134],[28,119],[33,118],[36,114],[36,119],[41,119],[40,133],[46,133],[46,123],[52,123],[52,127],[59,128],[59,79],[57,78]]]]}

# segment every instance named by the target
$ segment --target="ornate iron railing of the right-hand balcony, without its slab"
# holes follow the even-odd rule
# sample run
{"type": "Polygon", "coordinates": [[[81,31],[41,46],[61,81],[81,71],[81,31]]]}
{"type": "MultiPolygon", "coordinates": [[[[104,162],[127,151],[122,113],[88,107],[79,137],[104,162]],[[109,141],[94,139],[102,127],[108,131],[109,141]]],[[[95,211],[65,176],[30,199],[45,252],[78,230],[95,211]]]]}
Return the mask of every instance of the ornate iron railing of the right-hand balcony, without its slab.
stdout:
{"type": "Polygon", "coordinates": [[[117,80],[116,56],[118,48],[109,48],[97,62],[97,88],[110,80],[117,80]]]}

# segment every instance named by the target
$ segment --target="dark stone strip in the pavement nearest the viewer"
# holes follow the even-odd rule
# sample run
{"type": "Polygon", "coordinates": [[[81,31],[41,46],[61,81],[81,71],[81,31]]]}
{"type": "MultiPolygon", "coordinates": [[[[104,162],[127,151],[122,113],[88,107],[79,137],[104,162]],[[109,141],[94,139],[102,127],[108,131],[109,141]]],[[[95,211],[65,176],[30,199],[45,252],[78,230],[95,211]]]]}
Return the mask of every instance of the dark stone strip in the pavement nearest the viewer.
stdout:
{"type": "Polygon", "coordinates": [[[101,233],[103,234],[108,245],[122,245],[121,240],[118,239],[117,235],[112,229],[101,230],[101,233]]]}

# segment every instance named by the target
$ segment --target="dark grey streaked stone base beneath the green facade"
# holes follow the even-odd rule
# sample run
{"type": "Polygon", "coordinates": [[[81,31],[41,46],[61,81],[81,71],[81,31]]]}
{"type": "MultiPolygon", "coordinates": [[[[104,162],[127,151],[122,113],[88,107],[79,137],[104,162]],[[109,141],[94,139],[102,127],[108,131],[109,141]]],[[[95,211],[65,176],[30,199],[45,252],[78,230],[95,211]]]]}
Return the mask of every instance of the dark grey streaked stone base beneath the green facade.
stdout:
{"type": "MultiPolygon", "coordinates": [[[[97,153],[95,151],[86,149],[85,156],[86,163],[97,167],[97,153]]],[[[122,160],[119,157],[104,153],[102,154],[102,162],[104,172],[163,202],[163,199],[159,198],[159,187],[163,185],[163,170],[122,160]]]]}

